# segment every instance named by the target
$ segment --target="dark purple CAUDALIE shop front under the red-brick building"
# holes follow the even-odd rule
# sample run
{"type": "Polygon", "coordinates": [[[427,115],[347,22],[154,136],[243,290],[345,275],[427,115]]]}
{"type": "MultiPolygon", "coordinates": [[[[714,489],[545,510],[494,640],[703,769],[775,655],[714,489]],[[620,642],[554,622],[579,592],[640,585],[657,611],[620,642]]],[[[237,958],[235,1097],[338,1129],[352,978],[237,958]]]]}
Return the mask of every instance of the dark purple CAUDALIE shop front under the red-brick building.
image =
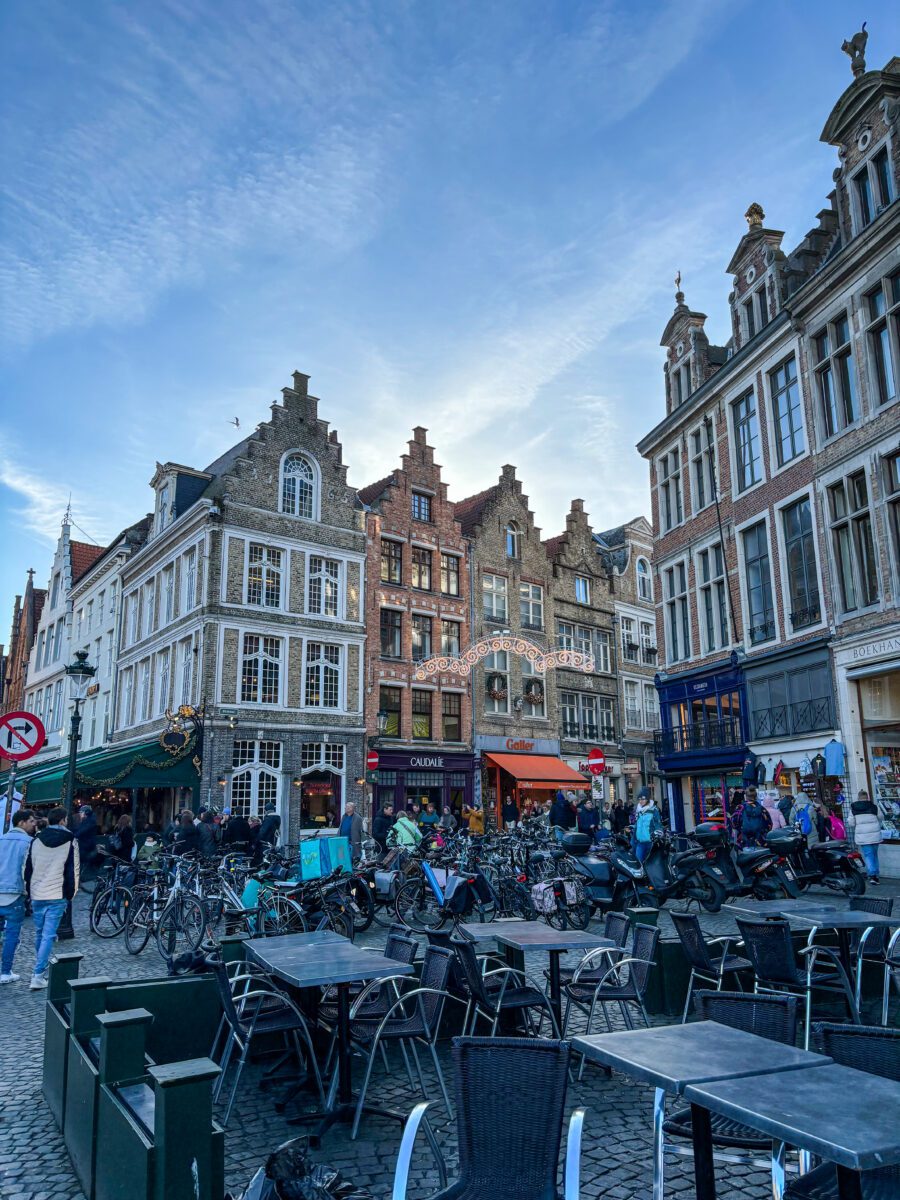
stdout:
{"type": "Polygon", "coordinates": [[[463,805],[473,800],[474,767],[472,754],[379,748],[374,811],[385,804],[392,804],[395,811],[410,804],[425,810],[433,804],[438,812],[449,808],[458,820],[463,805]]]}

